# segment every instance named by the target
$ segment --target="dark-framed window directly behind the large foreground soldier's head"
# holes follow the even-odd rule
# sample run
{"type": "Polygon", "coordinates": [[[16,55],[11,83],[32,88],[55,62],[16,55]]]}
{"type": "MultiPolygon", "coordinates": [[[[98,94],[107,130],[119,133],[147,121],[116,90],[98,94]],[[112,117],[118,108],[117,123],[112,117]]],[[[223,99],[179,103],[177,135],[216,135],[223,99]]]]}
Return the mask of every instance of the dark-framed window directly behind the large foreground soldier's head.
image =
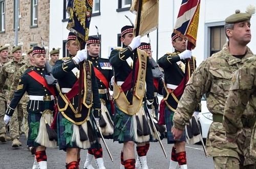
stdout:
{"type": "Polygon", "coordinates": [[[226,43],[226,34],[224,26],[210,28],[210,56],[222,50],[226,43]]]}

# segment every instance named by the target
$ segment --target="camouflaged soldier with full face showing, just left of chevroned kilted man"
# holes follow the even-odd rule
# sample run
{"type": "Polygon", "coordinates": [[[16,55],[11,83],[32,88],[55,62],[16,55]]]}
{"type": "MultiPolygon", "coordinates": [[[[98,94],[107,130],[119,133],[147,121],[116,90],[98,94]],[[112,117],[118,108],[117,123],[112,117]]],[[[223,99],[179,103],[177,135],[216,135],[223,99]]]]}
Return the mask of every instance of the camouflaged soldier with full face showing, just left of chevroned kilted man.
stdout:
{"type": "MultiPolygon", "coordinates": [[[[3,88],[4,85],[11,86],[14,78],[14,73],[24,65],[24,62],[21,61],[22,50],[20,46],[14,46],[12,49],[13,60],[5,64],[0,73],[0,88],[3,88]]],[[[9,101],[9,90],[5,93],[9,101]]],[[[19,142],[19,130],[20,125],[23,119],[22,105],[19,104],[15,110],[11,120],[10,120],[10,135],[12,137],[12,147],[16,148],[22,146],[22,143],[19,142]],[[19,124],[20,122],[20,124],[19,124]]]]}

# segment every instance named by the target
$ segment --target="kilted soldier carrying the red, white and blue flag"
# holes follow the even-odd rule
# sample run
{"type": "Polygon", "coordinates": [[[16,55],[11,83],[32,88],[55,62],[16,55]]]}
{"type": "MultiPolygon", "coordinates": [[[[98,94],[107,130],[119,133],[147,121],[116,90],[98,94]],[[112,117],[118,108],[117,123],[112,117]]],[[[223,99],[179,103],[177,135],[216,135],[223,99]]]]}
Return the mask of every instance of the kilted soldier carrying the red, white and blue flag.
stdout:
{"type": "MultiPolygon", "coordinates": [[[[186,164],[186,135],[182,135],[181,139],[175,140],[171,129],[173,126],[173,115],[177,108],[179,99],[183,92],[184,85],[180,85],[185,75],[185,60],[189,61],[190,74],[193,73],[196,67],[195,58],[191,56],[191,51],[186,50],[187,40],[180,37],[178,34],[172,34],[172,44],[174,46],[174,53],[167,53],[158,60],[158,64],[164,70],[164,89],[163,100],[165,103],[164,117],[167,129],[167,143],[173,144],[172,156],[170,159],[169,168],[176,168],[179,163],[180,168],[187,168],[186,164]],[[181,88],[181,90],[179,90],[181,88]]],[[[190,76],[190,75],[189,75],[190,76]]]]}

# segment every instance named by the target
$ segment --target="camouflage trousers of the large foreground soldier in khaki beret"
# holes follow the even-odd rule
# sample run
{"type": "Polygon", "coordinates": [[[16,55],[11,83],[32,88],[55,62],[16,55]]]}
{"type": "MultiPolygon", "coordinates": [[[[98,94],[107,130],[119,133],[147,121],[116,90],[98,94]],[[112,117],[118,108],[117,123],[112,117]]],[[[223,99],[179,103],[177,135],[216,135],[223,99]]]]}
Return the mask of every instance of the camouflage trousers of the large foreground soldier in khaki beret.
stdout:
{"type": "MultiPolygon", "coordinates": [[[[226,162],[231,162],[232,165],[235,165],[236,158],[242,166],[246,167],[247,165],[255,163],[254,158],[249,156],[249,148],[250,148],[250,131],[244,128],[238,134],[237,142],[228,142],[225,136],[225,129],[222,123],[213,122],[210,126],[207,140],[206,140],[206,151],[210,156],[214,157],[214,163],[218,163],[217,168],[228,168],[227,164],[220,167],[223,163],[219,161],[217,157],[220,158],[229,158],[226,159],[226,162]]],[[[225,161],[225,160],[224,160],[225,161]]],[[[231,165],[231,164],[230,164],[231,165]]]]}

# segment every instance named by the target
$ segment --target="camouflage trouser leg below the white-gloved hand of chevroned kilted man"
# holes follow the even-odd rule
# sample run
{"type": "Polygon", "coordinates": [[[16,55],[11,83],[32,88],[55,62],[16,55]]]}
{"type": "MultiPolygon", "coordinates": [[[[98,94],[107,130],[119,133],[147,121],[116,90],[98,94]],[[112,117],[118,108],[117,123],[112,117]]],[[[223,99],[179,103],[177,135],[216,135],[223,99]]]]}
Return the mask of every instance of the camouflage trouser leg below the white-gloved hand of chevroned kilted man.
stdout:
{"type": "Polygon", "coordinates": [[[18,104],[10,120],[10,135],[12,140],[15,138],[19,139],[19,135],[20,135],[19,132],[20,132],[20,127],[22,125],[22,120],[23,120],[22,104],[18,104]]]}

